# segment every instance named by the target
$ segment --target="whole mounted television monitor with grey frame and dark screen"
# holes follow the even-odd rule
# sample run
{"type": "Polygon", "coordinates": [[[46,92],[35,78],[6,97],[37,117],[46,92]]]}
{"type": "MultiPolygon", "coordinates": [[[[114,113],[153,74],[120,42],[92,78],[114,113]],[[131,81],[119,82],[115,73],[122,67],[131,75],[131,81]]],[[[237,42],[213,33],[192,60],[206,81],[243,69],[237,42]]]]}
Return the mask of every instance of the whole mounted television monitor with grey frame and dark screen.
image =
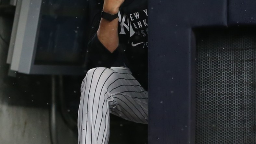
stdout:
{"type": "Polygon", "coordinates": [[[87,10],[84,0],[22,0],[10,69],[84,75],[87,10]]]}

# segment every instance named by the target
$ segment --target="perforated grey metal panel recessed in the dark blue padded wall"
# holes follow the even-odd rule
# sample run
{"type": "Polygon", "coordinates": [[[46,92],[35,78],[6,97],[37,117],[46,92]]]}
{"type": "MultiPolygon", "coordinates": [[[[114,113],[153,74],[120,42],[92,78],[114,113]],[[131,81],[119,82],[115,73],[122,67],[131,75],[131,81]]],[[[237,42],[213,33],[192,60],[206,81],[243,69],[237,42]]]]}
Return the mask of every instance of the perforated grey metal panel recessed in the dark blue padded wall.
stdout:
{"type": "Polygon", "coordinates": [[[197,35],[196,143],[256,143],[256,32],[197,35]]]}

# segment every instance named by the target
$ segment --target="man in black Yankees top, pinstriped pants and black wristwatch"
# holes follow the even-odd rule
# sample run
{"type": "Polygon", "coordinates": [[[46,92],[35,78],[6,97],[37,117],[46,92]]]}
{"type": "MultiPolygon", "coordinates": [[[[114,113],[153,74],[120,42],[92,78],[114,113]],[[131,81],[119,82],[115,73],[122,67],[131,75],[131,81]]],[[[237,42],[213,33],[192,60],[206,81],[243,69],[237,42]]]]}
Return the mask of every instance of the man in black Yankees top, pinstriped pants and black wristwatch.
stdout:
{"type": "Polygon", "coordinates": [[[90,0],[90,70],[81,85],[79,144],[107,144],[109,113],[148,122],[147,0],[90,0]],[[112,67],[118,58],[122,67],[112,67]]]}

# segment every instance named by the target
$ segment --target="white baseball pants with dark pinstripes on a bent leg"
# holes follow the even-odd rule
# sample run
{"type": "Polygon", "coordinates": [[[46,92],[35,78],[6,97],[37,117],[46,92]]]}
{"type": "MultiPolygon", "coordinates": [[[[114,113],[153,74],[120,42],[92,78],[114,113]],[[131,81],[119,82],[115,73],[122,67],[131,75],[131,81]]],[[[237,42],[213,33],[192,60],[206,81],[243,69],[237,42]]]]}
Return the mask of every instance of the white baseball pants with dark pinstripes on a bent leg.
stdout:
{"type": "Polygon", "coordinates": [[[108,144],[109,113],[147,124],[147,91],[126,67],[90,69],[81,85],[79,144],[108,144]]]}

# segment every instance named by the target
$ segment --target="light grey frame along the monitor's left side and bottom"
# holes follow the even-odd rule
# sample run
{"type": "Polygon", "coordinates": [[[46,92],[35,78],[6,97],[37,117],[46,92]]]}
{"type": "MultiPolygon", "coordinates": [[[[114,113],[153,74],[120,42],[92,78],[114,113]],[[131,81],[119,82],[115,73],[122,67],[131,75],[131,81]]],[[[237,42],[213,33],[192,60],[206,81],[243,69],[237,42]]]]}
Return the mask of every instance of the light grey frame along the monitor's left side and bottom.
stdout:
{"type": "Polygon", "coordinates": [[[85,75],[85,66],[34,64],[42,0],[22,0],[10,70],[24,74],[85,75]]]}

